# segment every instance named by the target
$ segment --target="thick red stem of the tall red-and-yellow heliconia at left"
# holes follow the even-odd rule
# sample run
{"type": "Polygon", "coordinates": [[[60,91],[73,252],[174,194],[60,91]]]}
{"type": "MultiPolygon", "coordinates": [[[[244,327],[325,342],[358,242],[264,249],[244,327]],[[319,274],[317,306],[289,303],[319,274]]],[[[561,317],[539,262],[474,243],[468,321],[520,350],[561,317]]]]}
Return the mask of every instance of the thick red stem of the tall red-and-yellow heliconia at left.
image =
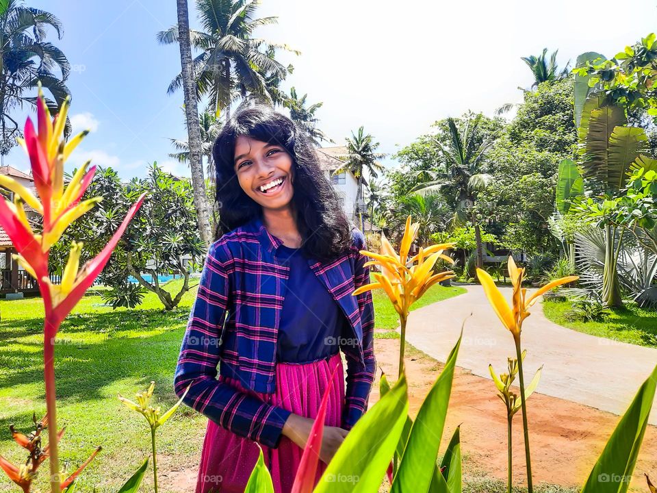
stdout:
{"type": "Polygon", "coordinates": [[[46,409],[48,412],[48,445],[50,451],[50,490],[60,493],[60,457],[57,447],[57,399],[55,397],[55,340],[51,334],[57,327],[47,317],[44,320],[43,378],[46,386],[46,409]]]}

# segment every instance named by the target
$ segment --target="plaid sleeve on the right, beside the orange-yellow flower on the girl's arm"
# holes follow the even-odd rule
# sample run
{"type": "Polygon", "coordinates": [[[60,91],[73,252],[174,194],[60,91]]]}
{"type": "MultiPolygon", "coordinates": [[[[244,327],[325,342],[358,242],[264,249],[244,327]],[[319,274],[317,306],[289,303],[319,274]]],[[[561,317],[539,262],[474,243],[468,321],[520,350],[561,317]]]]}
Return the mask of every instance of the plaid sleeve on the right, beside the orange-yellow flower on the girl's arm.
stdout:
{"type": "MultiPolygon", "coordinates": [[[[359,230],[354,231],[355,245],[358,250],[365,249],[365,237],[359,230]]],[[[362,253],[357,253],[354,267],[354,285],[358,289],[370,283],[370,266],[364,266],[369,259],[362,253]]],[[[346,353],[347,359],[347,387],[345,390],[345,408],[342,416],[342,427],[351,429],[368,408],[370,390],[374,382],[376,359],[374,357],[374,303],[372,291],[365,291],[356,295],[359,311],[361,313],[361,327],[363,328],[364,365],[354,359],[351,352],[346,353]]]]}

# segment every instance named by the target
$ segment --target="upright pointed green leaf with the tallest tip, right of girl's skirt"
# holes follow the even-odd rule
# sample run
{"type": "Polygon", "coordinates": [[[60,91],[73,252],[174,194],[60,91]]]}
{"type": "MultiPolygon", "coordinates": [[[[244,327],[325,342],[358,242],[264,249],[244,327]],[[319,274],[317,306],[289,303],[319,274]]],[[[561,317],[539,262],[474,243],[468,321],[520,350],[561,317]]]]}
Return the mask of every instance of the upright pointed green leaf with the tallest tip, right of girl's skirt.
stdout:
{"type": "Polygon", "coordinates": [[[433,471],[445,427],[445,418],[452,392],[454,366],[462,337],[463,332],[452,349],[445,368],[417,412],[402,462],[392,483],[391,493],[427,491],[434,479],[433,471]]]}

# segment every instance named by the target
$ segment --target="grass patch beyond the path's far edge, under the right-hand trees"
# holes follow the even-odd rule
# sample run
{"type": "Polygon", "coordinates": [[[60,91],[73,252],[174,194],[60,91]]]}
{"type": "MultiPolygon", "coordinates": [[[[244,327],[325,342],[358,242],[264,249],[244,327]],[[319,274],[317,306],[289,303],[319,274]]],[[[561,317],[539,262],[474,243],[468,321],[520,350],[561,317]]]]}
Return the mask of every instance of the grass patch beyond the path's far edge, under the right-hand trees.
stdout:
{"type": "Polygon", "coordinates": [[[571,321],[566,317],[570,301],[544,301],[543,313],[552,322],[578,332],[602,338],[628,342],[639,346],[657,347],[657,312],[634,304],[613,308],[600,322],[571,321]]]}

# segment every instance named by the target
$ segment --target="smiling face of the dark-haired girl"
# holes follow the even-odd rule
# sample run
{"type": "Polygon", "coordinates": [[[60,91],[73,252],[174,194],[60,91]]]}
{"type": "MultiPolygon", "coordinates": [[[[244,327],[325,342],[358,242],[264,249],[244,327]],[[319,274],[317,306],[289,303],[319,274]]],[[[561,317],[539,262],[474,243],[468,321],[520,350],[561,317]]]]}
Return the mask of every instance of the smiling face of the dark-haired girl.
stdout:
{"type": "Polygon", "coordinates": [[[239,136],[235,140],[233,166],[244,193],[261,207],[289,207],[294,194],[294,169],[292,156],[285,147],[239,136]]]}

